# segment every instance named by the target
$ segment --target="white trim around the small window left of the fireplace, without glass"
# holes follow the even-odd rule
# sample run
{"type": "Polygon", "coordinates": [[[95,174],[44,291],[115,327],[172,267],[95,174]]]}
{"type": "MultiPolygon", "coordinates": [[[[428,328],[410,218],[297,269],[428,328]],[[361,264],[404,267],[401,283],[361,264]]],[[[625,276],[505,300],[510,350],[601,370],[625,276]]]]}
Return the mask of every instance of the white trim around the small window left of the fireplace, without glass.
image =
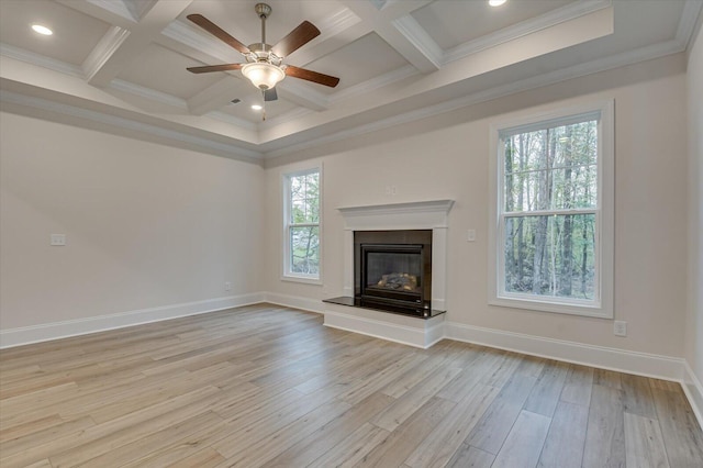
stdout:
{"type": "Polygon", "coordinates": [[[283,202],[283,207],[282,207],[282,214],[283,214],[283,230],[282,230],[282,257],[281,257],[281,276],[280,279],[282,281],[292,281],[292,282],[302,282],[302,283],[308,283],[308,285],[322,285],[322,265],[323,265],[323,258],[322,258],[322,253],[323,253],[323,248],[322,248],[322,244],[323,244],[323,232],[322,232],[322,226],[323,226],[323,211],[324,211],[324,207],[323,207],[323,202],[324,202],[324,193],[323,193],[323,174],[322,174],[322,164],[315,165],[315,166],[306,166],[304,169],[298,169],[298,170],[291,170],[289,172],[283,172],[281,174],[281,183],[280,187],[282,188],[282,202],[283,202]],[[289,205],[290,205],[290,178],[291,177],[295,177],[295,176],[303,176],[305,174],[310,174],[310,172],[314,172],[317,171],[319,172],[319,177],[320,177],[320,187],[319,187],[319,193],[320,193],[320,213],[319,213],[319,222],[317,222],[317,226],[319,226],[319,233],[320,233],[320,252],[319,252],[319,257],[320,257],[320,266],[317,268],[317,275],[313,276],[313,275],[301,275],[301,274],[294,274],[290,271],[290,233],[289,233],[289,220],[290,220],[290,213],[289,213],[289,205]]]}

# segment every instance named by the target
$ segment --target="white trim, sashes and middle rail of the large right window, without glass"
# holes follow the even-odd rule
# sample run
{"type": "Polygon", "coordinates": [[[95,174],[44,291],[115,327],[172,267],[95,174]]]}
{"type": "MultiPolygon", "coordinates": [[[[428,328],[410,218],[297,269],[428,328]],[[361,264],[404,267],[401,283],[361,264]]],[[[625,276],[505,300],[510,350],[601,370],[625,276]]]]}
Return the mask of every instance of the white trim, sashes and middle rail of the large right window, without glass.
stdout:
{"type": "MultiPolygon", "coordinates": [[[[491,214],[489,225],[489,303],[492,305],[537,310],[611,319],[613,316],[613,170],[614,170],[614,102],[604,101],[596,104],[574,105],[543,113],[522,112],[522,116],[503,120],[491,125],[491,214]],[[596,194],[593,207],[558,208],[535,211],[504,211],[507,193],[506,176],[515,176],[520,171],[506,172],[506,138],[524,132],[545,131],[562,125],[595,121],[596,158],[590,166],[595,169],[596,194]],[[594,233],[591,249],[594,275],[593,300],[506,292],[505,277],[506,238],[505,222],[509,219],[529,219],[533,216],[593,215],[594,233]]],[[[570,166],[576,168],[577,165],[570,166]]],[[[559,168],[538,168],[536,170],[559,170],[559,168]]],[[[563,168],[561,168],[563,170],[563,168]]],[[[556,247],[559,249],[559,247],[556,247]]],[[[559,250],[557,250],[559,252],[559,250]]],[[[589,252],[589,255],[591,253],[589,252]]],[[[513,288],[513,285],[511,285],[513,288]]]]}

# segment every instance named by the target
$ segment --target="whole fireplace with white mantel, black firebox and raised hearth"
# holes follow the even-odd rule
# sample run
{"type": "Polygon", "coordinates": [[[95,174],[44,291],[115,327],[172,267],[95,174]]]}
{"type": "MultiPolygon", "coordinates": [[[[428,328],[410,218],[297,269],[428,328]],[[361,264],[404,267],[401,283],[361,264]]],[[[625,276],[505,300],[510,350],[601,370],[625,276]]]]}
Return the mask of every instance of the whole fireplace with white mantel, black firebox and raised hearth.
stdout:
{"type": "MultiPolygon", "coordinates": [[[[446,275],[447,275],[447,232],[449,211],[454,205],[454,200],[432,200],[409,203],[392,203],[367,207],[346,207],[338,211],[344,218],[344,285],[343,296],[325,299],[324,302],[324,324],[336,328],[348,330],[384,339],[400,342],[419,347],[429,347],[442,336],[442,324],[444,313],[447,311],[446,275]],[[391,235],[406,236],[409,232],[424,231],[425,236],[431,239],[428,243],[416,238],[403,238],[400,242],[392,241],[390,244],[401,244],[404,247],[391,254],[401,256],[415,256],[415,260],[404,258],[391,263],[391,269],[402,270],[405,265],[409,268],[416,268],[417,246],[422,246],[421,252],[426,255],[421,260],[423,266],[422,278],[417,282],[421,291],[421,302],[415,307],[408,307],[405,303],[393,302],[392,297],[378,300],[378,282],[383,280],[383,275],[388,275],[386,281],[395,282],[394,289],[403,287],[413,288],[414,282],[410,279],[399,279],[403,274],[413,275],[412,271],[386,271],[380,278],[369,278],[378,272],[368,275],[366,278],[365,293],[361,294],[361,276],[357,275],[355,268],[357,259],[360,261],[361,250],[358,248],[366,235],[373,235],[376,232],[392,232],[391,235]],[[404,234],[401,232],[405,232],[404,234]],[[356,244],[356,247],[355,247],[356,244]],[[405,249],[408,248],[408,249],[405,249]],[[415,264],[413,264],[415,261],[415,264]],[[394,265],[394,266],[393,266],[394,265]],[[425,266],[431,268],[428,276],[424,276],[425,266]],[[391,277],[395,274],[394,277],[391,277]],[[375,281],[373,281],[375,280],[375,281]],[[373,282],[376,285],[373,285],[373,282]],[[421,286],[422,285],[422,286],[421,286]],[[370,287],[370,288],[369,288],[370,287]],[[369,290],[371,294],[369,294],[369,290]],[[390,300],[389,300],[390,299],[390,300]],[[425,305],[427,308],[425,308],[425,305]],[[388,313],[391,312],[391,313],[388,313]]],[[[364,242],[370,247],[367,252],[375,254],[388,254],[379,252],[386,248],[388,242],[376,242],[370,239],[364,242]]],[[[392,260],[395,261],[395,260],[392,260]]],[[[386,269],[383,267],[382,269],[386,269]]],[[[415,275],[417,276],[417,275],[415,275]]],[[[388,294],[387,294],[388,296],[388,294]]],[[[415,296],[414,301],[417,300],[415,296]]]]}

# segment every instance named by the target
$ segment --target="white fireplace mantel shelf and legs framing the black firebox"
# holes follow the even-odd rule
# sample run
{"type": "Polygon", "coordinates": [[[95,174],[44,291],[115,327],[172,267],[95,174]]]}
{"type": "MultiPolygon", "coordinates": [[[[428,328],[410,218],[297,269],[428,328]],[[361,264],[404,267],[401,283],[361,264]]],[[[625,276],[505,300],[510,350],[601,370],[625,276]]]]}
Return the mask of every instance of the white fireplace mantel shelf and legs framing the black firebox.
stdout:
{"type": "Polygon", "coordinates": [[[344,294],[354,296],[354,232],[432,230],[432,309],[447,310],[447,229],[454,200],[338,208],[344,216],[344,294]]]}

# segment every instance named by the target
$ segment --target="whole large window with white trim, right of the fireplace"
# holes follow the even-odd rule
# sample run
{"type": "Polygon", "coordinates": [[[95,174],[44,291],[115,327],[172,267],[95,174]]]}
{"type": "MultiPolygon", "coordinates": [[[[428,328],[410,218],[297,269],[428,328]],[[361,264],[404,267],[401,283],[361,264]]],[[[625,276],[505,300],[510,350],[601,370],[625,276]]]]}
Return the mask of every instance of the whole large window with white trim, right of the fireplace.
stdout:
{"type": "Polygon", "coordinates": [[[612,317],[612,103],[494,126],[491,303],[612,317]]]}

